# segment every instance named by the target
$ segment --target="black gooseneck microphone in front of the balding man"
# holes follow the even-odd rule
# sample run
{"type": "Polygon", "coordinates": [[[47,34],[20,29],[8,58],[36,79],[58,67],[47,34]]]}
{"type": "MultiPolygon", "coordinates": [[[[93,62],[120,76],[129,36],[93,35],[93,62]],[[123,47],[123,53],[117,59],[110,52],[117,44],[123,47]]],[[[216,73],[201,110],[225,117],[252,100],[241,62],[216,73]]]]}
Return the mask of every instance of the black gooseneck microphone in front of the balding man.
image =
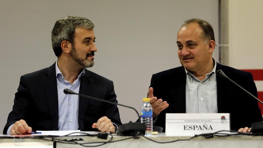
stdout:
{"type": "MultiPolygon", "coordinates": [[[[255,97],[253,94],[250,94],[250,92],[248,92],[247,90],[245,90],[243,87],[239,86],[236,82],[234,82],[233,80],[231,80],[229,77],[227,77],[224,72],[219,69],[216,71],[216,73],[221,76],[226,78],[227,80],[229,80],[231,83],[235,84],[237,87],[239,87],[240,89],[242,89],[244,92],[246,92],[247,94],[249,94],[251,97],[253,97],[254,99],[256,99],[259,103],[263,104],[263,102],[261,100],[259,100],[257,97],[255,97]]],[[[263,122],[255,122],[251,124],[251,132],[254,133],[260,133],[263,132],[263,122]]]]}

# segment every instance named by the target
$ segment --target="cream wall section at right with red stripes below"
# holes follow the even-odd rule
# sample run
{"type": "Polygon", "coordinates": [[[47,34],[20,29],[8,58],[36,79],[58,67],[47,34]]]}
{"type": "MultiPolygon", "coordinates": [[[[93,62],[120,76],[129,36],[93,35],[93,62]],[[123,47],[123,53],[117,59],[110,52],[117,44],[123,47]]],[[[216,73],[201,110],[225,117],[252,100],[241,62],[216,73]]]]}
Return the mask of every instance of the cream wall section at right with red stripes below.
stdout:
{"type": "MultiPolygon", "coordinates": [[[[263,1],[229,1],[229,61],[237,69],[263,69],[263,1]]],[[[263,81],[255,81],[263,91],[263,81]]]]}

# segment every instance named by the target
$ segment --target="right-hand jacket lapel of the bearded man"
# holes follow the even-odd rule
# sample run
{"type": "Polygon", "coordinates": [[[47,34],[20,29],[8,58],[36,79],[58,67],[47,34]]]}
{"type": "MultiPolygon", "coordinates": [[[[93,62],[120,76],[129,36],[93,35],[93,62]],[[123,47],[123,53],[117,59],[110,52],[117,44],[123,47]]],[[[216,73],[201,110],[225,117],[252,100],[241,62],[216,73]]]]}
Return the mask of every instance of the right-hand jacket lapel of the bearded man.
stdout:
{"type": "MultiPolygon", "coordinates": [[[[87,96],[91,95],[93,80],[90,79],[90,72],[85,68],[85,74],[81,77],[79,94],[84,94],[87,96]]],[[[79,96],[79,129],[84,130],[84,119],[88,109],[90,99],[79,96]]]]}

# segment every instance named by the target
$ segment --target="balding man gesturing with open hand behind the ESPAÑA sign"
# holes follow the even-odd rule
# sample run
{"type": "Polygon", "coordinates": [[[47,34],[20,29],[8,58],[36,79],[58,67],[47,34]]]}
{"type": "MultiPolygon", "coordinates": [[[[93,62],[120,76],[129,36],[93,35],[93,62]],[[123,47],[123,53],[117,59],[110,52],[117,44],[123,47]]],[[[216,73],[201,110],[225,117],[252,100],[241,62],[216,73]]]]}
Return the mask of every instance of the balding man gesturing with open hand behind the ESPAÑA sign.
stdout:
{"type": "Polygon", "coordinates": [[[251,123],[262,121],[257,101],[216,74],[221,69],[257,97],[251,73],[221,65],[212,58],[215,37],[209,23],[186,20],[178,31],[177,45],[182,66],[152,75],[148,97],[156,126],[165,131],[166,113],[230,113],[231,130],[239,132],[250,132],[251,123]]]}

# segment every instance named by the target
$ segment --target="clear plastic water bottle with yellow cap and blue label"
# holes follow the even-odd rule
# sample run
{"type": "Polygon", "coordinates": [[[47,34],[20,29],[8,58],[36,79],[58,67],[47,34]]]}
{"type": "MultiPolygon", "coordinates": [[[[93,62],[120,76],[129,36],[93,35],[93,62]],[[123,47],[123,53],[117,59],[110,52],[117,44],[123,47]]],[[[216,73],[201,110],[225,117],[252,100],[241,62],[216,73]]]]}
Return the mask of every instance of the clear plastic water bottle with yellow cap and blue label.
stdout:
{"type": "Polygon", "coordinates": [[[141,123],[146,125],[145,136],[152,135],[152,105],[150,98],[143,98],[143,105],[141,106],[141,123]]]}

